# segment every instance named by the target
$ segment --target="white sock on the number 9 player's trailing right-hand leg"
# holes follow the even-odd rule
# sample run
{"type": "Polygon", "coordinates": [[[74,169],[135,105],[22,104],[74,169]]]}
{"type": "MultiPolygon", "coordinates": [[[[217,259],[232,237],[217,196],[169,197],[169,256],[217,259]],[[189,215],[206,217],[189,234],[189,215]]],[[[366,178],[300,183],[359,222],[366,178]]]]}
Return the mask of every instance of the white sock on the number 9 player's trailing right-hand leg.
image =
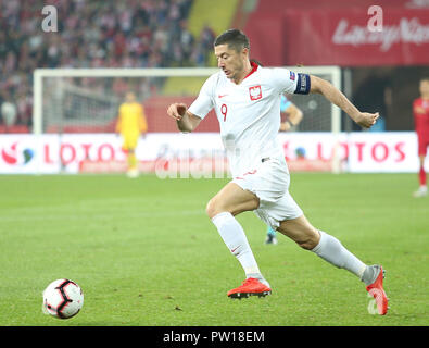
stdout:
{"type": "Polygon", "coordinates": [[[353,253],[343,247],[336,237],[319,231],[319,244],[312,249],[318,257],[336,265],[339,269],[345,269],[363,279],[366,264],[357,259],[353,253]]]}

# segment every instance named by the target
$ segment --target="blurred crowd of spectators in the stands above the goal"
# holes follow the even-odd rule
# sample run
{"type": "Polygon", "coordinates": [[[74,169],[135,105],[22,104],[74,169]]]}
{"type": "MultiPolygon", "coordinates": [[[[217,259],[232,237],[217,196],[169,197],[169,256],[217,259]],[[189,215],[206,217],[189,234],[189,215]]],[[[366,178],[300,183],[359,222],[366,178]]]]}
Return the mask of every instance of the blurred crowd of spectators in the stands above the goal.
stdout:
{"type": "Polygon", "coordinates": [[[56,33],[41,28],[46,4],[0,0],[3,128],[30,128],[37,67],[203,66],[215,37],[207,26],[199,37],[188,29],[192,0],[52,0],[56,33]]]}

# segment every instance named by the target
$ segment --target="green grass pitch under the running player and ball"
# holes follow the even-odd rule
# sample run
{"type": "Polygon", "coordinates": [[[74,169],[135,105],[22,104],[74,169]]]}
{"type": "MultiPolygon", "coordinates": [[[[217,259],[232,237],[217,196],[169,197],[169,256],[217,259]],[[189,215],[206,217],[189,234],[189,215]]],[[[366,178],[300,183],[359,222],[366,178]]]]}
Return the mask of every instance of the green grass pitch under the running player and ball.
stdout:
{"type": "Polygon", "coordinates": [[[238,220],[273,287],[231,300],[243,271],[205,215],[227,179],[143,175],[0,177],[1,326],[428,325],[429,197],[413,174],[292,173],[291,192],[317,228],[387,270],[386,316],[368,313],[365,286],[278,236],[238,220]],[[85,304],[71,320],[41,312],[56,278],[77,282],[85,304]]]}

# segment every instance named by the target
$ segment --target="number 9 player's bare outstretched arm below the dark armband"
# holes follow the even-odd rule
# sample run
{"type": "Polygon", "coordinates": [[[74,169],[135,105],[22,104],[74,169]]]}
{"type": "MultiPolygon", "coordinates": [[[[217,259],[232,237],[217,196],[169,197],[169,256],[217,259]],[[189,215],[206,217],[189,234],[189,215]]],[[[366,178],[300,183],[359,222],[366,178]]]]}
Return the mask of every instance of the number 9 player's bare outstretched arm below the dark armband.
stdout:
{"type": "Polygon", "coordinates": [[[357,108],[338,88],[320,77],[310,75],[310,92],[323,95],[364,128],[370,128],[379,117],[378,112],[368,113],[357,110],[357,108]]]}

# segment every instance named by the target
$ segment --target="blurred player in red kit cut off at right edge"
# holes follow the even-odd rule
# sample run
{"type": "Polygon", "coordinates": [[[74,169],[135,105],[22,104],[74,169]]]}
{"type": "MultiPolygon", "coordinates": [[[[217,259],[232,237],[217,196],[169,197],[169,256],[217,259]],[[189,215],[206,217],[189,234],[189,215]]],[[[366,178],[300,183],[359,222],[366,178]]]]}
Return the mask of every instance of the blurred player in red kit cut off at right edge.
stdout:
{"type": "Polygon", "coordinates": [[[413,102],[414,123],[418,139],[418,158],[420,171],[418,174],[420,186],[414,197],[428,195],[426,184],[425,158],[429,146],[429,77],[420,79],[420,98],[413,102]]]}

